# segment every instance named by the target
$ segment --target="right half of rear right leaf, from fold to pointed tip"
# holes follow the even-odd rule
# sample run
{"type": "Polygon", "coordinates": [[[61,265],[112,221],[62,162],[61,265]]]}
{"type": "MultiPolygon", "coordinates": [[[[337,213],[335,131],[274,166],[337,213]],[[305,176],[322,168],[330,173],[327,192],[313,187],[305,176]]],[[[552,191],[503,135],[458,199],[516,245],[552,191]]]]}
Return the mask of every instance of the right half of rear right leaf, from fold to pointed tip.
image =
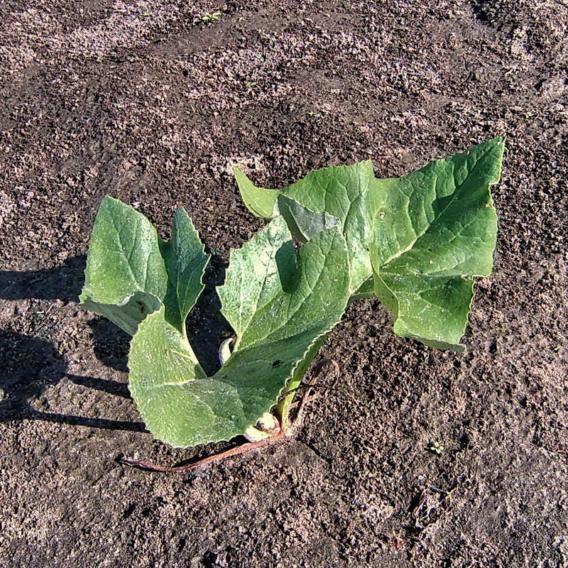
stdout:
{"type": "Polygon", "coordinates": [[[491,273],[503,138],[437,160],[371,190],[371,260],[377,297],[395,332],[444,349],[459,344],[473,298],[473,276],[491,273]]]}

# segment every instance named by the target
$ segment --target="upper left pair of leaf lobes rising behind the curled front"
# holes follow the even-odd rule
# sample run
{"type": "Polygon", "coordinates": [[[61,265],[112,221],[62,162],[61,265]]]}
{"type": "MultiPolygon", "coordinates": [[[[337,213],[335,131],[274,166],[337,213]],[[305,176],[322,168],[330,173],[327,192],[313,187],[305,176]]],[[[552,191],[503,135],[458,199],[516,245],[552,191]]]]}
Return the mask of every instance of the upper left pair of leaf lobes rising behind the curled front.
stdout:
{"type": "Polygon", "coordinates": [[[201,293],[208,260],[184,209],[175,213],[166,243],[143,214],[107,196],[94,220],[82,307],[133,335],[165,302],[167,320],[185,334],[185,317],[201,293]]]}

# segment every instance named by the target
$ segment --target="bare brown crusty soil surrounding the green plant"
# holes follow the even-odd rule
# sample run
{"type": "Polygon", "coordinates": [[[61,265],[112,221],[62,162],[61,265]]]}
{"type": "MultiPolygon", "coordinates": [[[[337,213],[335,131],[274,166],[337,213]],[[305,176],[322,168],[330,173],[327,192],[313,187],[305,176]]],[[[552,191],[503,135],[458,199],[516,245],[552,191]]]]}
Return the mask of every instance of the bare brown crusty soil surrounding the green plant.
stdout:
{"type": "Polygon", "coordinates": [[[4,1],[0,567],[567,567],[567,34],[555,0],[4,1]],[[164,237],[185,207],[219,253],[190,320],[214,366],[212,286],[262,225],[233,163],[264,187],[366,158],[393,177],[501,134],[464,354],[356,302],[295,439],[117,463],[227,444],[153,440],[129,338],[77,307],[104,195],[164,237]]]}

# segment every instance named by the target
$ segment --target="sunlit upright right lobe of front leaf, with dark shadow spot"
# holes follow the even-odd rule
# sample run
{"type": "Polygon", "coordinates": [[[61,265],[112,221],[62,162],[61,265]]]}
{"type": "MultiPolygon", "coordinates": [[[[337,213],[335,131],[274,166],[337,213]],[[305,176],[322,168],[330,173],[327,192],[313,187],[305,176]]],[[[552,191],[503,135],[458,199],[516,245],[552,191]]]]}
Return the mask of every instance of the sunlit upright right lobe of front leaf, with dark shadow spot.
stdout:
{"type": "Polygon", "coordinates": [[[222,313],[237,334],[235,351],[315,326],[327,330],[328,310],[339,320],[349,280],[345,248],[334,227],[296,252],[284,219],[277,217],[242,249],[231,251],[218,291],[222,313]]]}

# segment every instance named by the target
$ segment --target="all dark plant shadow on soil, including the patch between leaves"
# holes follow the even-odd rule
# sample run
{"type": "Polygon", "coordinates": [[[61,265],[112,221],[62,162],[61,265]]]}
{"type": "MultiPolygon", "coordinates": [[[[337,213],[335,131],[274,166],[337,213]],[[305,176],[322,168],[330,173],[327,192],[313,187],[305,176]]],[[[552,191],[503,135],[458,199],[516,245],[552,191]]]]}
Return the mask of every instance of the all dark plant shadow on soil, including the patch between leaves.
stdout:
{"type": "MultiPolygon", "coordinates": [[[[82,288],[84,256],[69,258],[62,266],[37,271],[0,271],[0,299],[62,300],[78,302],[82,288]]],[[[232,329],[221,314],[215,287],[224,280],[224,261],[212,256],[204,281],[205,289],[187,320],[187,331],[200,362],[211,376],[219,368],[217,348],[232,329]]],[[[118,371],[128,371],[129,334],[103,317],[89,322],[94,354],[99,361],[118,371]]],[[[0,422],[9,420],[46,420],[63,424],[148,432],[143,422],[88,418],[35,410],[33,400],[40,399],[45,388],[67,378],[77,385],[94,388],[115,396],[130,398],[125,384],[103,378],[67,373],[65,358],[50,342],[0,329],[0,422]]],[[[43,401],[47,403],[47,401],[43,401]]]]}

